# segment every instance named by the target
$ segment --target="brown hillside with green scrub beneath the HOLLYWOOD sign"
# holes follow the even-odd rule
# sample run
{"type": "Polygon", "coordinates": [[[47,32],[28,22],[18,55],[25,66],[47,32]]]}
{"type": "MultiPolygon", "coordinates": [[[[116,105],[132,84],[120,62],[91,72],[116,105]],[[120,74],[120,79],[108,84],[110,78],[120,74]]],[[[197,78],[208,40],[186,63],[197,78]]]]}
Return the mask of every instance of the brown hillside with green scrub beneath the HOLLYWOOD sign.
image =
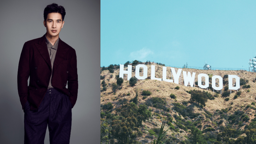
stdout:
{"type": "MultiPolygon", "coordinates": [[[[240,85],[240,89],[238,89],[238,97],[234,99],[234,96],[237,94],[237,91],[234,90],[231,91],[231,94],[230,90],[227,90],[230,95],[227,97],[222,97],[220,91],[213,92],[210,87],[208,87],[207,90],[199,88],[197,85],[195,87],[184,86],[183,75],[181,76],[181,84],[151,80],[151,66],[147,65],[147,67],[148,78],[146,80],[139,80],[135,86],[131,86],[127,78],[124,78],[122,89],[117,90],[116,93],[113,93],[111,84],[116,83],[116,75],[119,75],[119,69],[114,70],[113,73],[110,73],[109,70],[104,70],[101,72],[101,76],[105,76],[105,78],[100,80],[100,84],[103,80],[105,80],[107,87],[106,91],[103,91],[103,86],[102,84],[100,85],[100,104],[102,118],[101,129],[108,129],[107,132],[101,132],[102,143],[106,143],[108,141],[111,143],[114,143],[114,141],[120,143],[120,141],[123,142],[126,140],[123,140],[123,138],[118,139],[117,135],[114,136],[113,132],[116,132],[117,128],[113,126],[116,126],[118,125],[117,123],[120,123],[120,133],[124,132],[124,130],[120,130],[123,127],[122,123],[126,124],[126,127],[128,127],[127,124],[129,125],[131,123],[129,123],[127,120],[129,114],[124,115],[124,112],[122,113],[122,111],[130,111],[129,104],[135,97],[136,92],[138,92],[138,104],[136,104],[136,106],[139,108],[139,105],[146,105],[151,114],[147,119],[142,118],[143,120],[141,124],[137,124],[138,127],[136,127],[135,124],[135,126],[131,127],[131,131],[127,130],[128,133],[136,133],[136,136],[133,137],[134,139],[132,139],[129,135],[130,141],[134,140],[137,141],[137,143],[150,143],[152,140],[157,139],[157,132],[159,132],[159,128],[161,127],[163,119],[166,121],[166,124],[164,124],[164,130],[172,127],[168,130],[166,137],[164,138],[165,140],[167,137],[170,137],[166,143],[192,143],[192,134],[189,132],[192,126],[196,126],[203,132],[204,139],[209,144],[214,142],[226,143],[228,141],[238,142],[237,139],[240,140],[242,136],[247,136],[245,130],[248,128],[251,130],[250,128],[252,127],[252,124],[254,124],[252,121],[254,121],[256,116],[256,107],[252,103],[256,102],[256,83],[254,83],[256,73],[242,70],[224,71],[182,68],[182,71],[187,71],[191,74],[192,72],[195,72],[195,81],[197,81],[197,75],[200,73],[208,74],[209,76],[218,75],[222,78],[224,75],[237,75],[242,79],[248,80],[246,85],[249,84],[250,88],[243,88],[244,85],[240,85]],[[175,89],[177,86],[180,87],[178,90],[175,89]],[[142,92],[147,90],[150,91],[151,94],[149,96],[142,95],[142,92]],[[195,102],[189,101],[191,98],[190,92],[193,90],[206,91],[213,97],[214,100],[208,99],[205,103],[205,107],[202,107],[195,102]],[[216,92],[219,94],[216,94],[216,92]],[[130,93],[130,95],[128,93],[130,93]],[[176,99],[172,99],[170,94],[174,94],[176,99]],[[155,105],[154,101],[153,104],[150,104],[150,102],[152,103],[152,100],[155,100],[155,97],[161,99],[157,99],[158,103],[155,105]],[[229,98],[229,100],[227,101],[226,98],[229,98]],[[113,108],[107,109],[107,105],[110,103],[112,104],[113,108]],[[112,134],[109,134],[111,130],[112,134]],[[225,132],[227,133],[227,131],[228,133],[230,133],[229,131],[234,131],[233,135],[225,135],[225,132]],[[106,136],[108,136],[108,138],[106,138],[106,136]]],[[[177,72],[178,68],[175,68],[175,70],[177,72]]],[[[163,66],[156,65],[155,71],[155,77],[162,78],[163,66]]],[[[132,77],[133,76],[135,76],[135,71],[132,70],[132,77]]],[[[167,67],[167,78],[171,79],[171,77],[171,68],[167,67]]],[[[223,78],[223,82],[227,80],[228,78],[223,78]]],[[[224,92],[224,86],[227,85],[227,82],[225,85],[223,84],[223,89],[221,91],[222,94],[224,92]]],[[[136,118],[138,119],[139,114],[133,115],[134,117],[137,116],[136,118]]],[[[119,137],[121,136],[126,137],[125,134],[119,135],[119,137]]]]}

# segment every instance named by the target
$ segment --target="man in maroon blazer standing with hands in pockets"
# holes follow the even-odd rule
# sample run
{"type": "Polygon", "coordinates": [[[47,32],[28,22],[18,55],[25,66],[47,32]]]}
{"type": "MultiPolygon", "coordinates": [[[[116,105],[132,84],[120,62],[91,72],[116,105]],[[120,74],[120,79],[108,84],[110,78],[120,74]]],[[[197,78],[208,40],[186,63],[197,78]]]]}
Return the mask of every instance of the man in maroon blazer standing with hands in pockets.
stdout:
{"type": "Polygon", "coordinates": [[[69,143],[78,80],[76,51],[59,38],[65,14],[63,6],[47,5],[45,35],[27,41],[20,54],[18,92],[24,111],[25,144],[43,144],[47,125],[51,144],[69,143]]]}

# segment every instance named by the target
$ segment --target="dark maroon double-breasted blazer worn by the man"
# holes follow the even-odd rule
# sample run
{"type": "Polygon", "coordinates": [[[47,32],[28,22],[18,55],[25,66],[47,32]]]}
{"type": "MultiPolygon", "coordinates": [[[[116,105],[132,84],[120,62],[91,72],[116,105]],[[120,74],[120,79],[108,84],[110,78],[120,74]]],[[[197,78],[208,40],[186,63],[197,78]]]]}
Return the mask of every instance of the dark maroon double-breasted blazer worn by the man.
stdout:
{"type": "Polygon", "coordinates": [[[18,68],[18,93],[22,109],[27,100],[31,110],[38,109],[47,91],[51,73],[52,86],[68,96],[73,108],[78,91],[75,49],[59,39],[52,68],[44,36],[25,42],[18,68]]]}

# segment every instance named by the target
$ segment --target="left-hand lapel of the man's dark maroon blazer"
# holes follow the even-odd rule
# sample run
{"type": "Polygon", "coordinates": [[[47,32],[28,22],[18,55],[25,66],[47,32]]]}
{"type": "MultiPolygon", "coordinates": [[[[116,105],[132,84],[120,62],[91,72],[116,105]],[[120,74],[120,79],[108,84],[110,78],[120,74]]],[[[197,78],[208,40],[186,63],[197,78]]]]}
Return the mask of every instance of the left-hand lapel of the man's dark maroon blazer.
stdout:
{"type": "Polygon", "coordinates": [[[47,63],[47,65],[50,67],[50,69],[52,71],[50,55],[49,55],[47,45],[44,40],[44,36],[40,37],[38,44],[35,44],[35,45],[36,45],[37,50],[40,52],[41,56],[44,58],[45,62],[47,63]]]}

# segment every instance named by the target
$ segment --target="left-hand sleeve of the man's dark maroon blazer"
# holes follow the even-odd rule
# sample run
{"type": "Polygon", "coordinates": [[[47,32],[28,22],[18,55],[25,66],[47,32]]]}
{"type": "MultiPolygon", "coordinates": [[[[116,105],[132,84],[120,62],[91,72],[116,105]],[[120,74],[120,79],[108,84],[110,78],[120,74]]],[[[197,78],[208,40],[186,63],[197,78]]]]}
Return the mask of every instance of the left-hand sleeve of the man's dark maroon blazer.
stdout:
{"type": "Polygon", "coordinates": [[[27,42],[23,45],[18,67],[18,93],[22,109],[28,100],[29,49],[27,42]]]}

